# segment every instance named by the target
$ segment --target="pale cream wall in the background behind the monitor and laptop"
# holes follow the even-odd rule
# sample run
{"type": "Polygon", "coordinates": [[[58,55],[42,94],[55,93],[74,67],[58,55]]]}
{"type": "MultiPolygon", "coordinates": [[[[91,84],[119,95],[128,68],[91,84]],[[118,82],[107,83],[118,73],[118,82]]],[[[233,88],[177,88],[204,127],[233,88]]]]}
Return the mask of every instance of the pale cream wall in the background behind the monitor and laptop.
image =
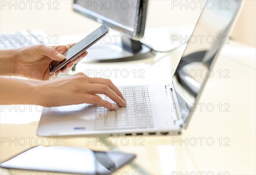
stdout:
{"type": "MultiPolygon", "coordinates": [[[[41,0],[44,7],[35,8],[38,0],[32,0],[29,9],[29,0],[24,0],[26,8],[20,9],[18,4],[22,0],[0,0],[0,33],[20,31],[25,29],[42,29],[47,34],[79,34],[89,33],[99,26],[99,23],[87,19],[72,10],[73,0],[41,0]],[[9,7],[9,3],[17,3],[9,7]],[[8,6],[5,4],[8,3],[8,6]],[[51,7],[49,9],[49,4],[51,7]],[[53,10],[58,5],[58,10],[53,10]]],[[[149,0],[146,27],[195,25],[201,13],[199,0],[195,10],[186,7],[172,6],[173,0],[149,0]],[[173,9],[172,9],[173,8],[173,9]]],[[[182,0],[185,3],[185,0],[182,0]]],[[[189,4],[193,0],[186,0],[189,4]]],[[[256,45],[256,0],[244,0],[242,14],[236,24],[232,37],[251,46],[256,45]]],[[[180,3],[180,0],[176,2],[180,3]]],[[[40,4],[37,4],[40,7],[40,4]]],[[[23,4],[20,3],[23,8],[23,4]]]]}

